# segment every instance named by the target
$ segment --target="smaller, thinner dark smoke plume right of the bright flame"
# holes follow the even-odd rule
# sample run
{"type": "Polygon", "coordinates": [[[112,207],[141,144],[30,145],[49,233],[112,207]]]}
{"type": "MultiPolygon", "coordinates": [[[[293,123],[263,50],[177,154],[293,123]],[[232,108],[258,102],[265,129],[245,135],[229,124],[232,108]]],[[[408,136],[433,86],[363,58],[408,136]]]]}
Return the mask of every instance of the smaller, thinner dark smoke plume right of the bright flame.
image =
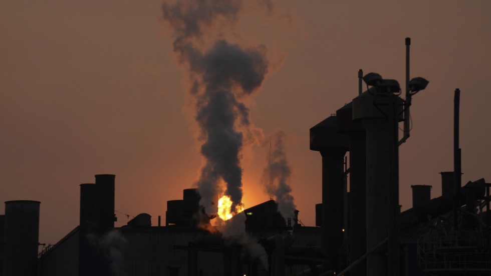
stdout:
{"type": "Polygon", "coordinates": [[[285,153],[283,131],[277,131],[271,136],[271,153],[268,157],[268,166],[264,169],[263,182],[268,194],[274,195],[278,209],[287,220],[295,217],[295,208],[292,188],[288,184],[291,169],[285,153]]]}

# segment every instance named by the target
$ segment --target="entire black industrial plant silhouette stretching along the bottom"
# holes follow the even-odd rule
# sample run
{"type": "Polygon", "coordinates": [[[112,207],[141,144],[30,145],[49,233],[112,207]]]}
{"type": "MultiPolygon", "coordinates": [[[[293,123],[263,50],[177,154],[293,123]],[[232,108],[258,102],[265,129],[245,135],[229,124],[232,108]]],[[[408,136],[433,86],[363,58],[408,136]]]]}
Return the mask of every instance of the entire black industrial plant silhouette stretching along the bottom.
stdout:
{"type": "Polygon", "coordinates": [[[358,96],[310,129],[310,149],[322,157],[315,227],[269,200],[223,221],[243,223],[245,235],[225,234],[210,224],[198,189],[184,189],[167,201],[165,224],[142,213],[115,228],[115,175],[98,174],[80,184],[79,225],[41,252],[40,202],[5,202],[0,275],[490,275],[491,184],[461,185],[458,89],[454,168],[440,172],[441,196],[412,185],[413,206],[400,212],[398,147],[410,137],[411,98],[428,84],[409,78],[405,42],[404,99],[396,80],[360,70],[358,96]]]}

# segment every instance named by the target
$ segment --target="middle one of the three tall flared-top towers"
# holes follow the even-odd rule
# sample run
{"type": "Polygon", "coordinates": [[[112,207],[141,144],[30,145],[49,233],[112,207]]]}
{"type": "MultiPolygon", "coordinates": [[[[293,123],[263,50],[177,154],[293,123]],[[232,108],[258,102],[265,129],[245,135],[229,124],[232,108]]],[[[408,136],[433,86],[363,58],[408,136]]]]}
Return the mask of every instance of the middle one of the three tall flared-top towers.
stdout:
{"type": "MultiPolygon", "coordinates": [[[[340,133],[349,137],[350,192],[348,243],[350,258],[356,260],[367,251],[366,216],[366,132],[361,122],[353,121],[353,103],[336,111],[340,133]]],[[[351,275],[366,275],[366,260],[351,269],[351,275]]]]}

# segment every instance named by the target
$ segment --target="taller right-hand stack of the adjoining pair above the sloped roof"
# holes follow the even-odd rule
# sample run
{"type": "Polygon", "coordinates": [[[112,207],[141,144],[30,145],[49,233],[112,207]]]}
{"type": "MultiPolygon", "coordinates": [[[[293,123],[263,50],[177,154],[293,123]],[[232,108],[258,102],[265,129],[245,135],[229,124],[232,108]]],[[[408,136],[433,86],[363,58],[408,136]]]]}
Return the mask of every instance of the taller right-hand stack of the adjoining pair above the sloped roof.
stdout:
{"type": "Polygon", "coordinates": [[[96,174],[96,222],[101,229],[114,228],[114,174],[96,174]]]}

